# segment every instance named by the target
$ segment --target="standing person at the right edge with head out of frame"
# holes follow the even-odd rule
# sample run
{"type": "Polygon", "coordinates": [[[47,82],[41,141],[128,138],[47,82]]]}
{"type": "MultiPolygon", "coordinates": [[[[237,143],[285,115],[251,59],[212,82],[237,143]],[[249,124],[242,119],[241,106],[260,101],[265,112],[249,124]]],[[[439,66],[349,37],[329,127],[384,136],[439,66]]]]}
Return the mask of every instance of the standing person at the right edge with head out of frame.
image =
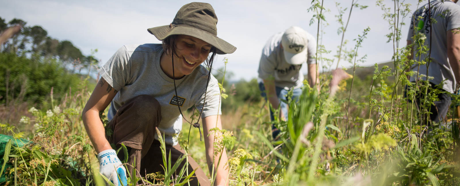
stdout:
{"type": "MultiPolygon", "coordinates": [[[[442,89],[448,93],[438,94],[439,100],[434,101],[434,105],[431,105],[430,119],[434,122],[440,122],[446,117],[451,103],[450,93],[454,93],[456,87],[460,85],[460,6],[455,4],[457,1],[433,0],[430,5],[431,10],[428,4],[420,7],[414,12],[407,37],[407,44],[410,45],[413,43],[414,34],[423,33],[426,39],[421,45],[431,47],[431,51],[420,56],[420,59],[425,59],[425,61],[431,57],[428,74],[426,74],[428,63],[420,65],[419,73],[425,75],[423,80],[426,80],[426,76],[433,77],[428,80],[431,87],[445,80],[442,89]]],[[[419,60],[419,57],[415,56],[417,46],[412,48],[415,51],[409,59],[419,60]]],[[[412,69],[415,70],[417,67],[418,64],[414,64],[412,69]]],[[[410,81],[415,82],[415,78],[416,75],[410,77],[410,81]]],[[[420,97],[417,97],[417,104],[420,104],[420,97]]],[[[426,121],[425,125],[429,124],[426,121]]]]}

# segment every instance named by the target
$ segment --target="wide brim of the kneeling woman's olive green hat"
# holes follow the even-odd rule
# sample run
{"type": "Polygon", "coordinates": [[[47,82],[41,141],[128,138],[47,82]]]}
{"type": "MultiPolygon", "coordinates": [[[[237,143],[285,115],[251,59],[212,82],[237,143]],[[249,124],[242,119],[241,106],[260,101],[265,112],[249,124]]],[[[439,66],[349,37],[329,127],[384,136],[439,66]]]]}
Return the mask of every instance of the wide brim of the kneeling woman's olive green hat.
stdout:
{"type": "Polygon", "coordinates": [[[195,38],[199,38],[205,41],[208,44],[213,45],[217,48],[217,54],[231,54],[235,52],[236,47],[229,44],[228,42],[224,41],[224,39],[215,37],[209,33],[203,32],[196,28],[185,27],[185,26],[173,26],[170,27],[169,25],[160,26],[160,27],[153,27],[147,29],[149,33],[153,34],[158,40],[163,40],[170,35],[188,35],[193,36],[195,38]]]}

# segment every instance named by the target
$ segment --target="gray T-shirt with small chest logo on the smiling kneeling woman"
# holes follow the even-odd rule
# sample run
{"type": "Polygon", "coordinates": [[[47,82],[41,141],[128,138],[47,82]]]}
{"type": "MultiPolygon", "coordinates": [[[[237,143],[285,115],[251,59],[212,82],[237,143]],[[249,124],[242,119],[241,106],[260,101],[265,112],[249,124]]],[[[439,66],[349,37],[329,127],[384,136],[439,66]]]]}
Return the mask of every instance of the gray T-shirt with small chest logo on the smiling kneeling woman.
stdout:
{"type": "MultiPolygon", "coordinates": [[[[182,130],[182,118],[177,104],[183,112],[194,105],[201,111],[209,71],[200,65],[190,75],[176,80],[177,98],[173,79],[161,70],[162,53],[161,44],[125,45],[118,49],[99,73],[119,91],[110,104],[109,120],[127,100],[138,95],[151,95],[161,106],[161,122],[158,128],[161,133],[165,133],[165,142],[177,145],[173,135],[182,130]]],[[[201,117],[221,114],[219,98],[218,82],[211,75],[201,117]]]]}

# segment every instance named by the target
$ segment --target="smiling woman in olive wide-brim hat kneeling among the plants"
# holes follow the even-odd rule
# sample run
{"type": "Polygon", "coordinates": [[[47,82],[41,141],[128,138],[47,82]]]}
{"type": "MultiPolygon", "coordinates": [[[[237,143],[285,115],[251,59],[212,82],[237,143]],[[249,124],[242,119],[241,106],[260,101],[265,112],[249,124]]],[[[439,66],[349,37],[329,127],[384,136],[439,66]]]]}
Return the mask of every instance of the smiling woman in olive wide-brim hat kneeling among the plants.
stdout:
{"type": "MultiPolygon", "coordinates": [[[[233,53],[236,47],[217,37],[216,25],[217,16],[211,5],[186,4],[171,24],[148,29],[162,44],[125,45],[100,69],[102,78],[86,103],[82,119],[98,153],[99,170],[115,185],[127,183],[126,170],[120,162],[125,154],[114,150],[122,144],[127,147],[127,163],[133,165],[127,166],[130,173],[164,173],[155,128],[164,137],[171,166],[184,154],[173,136],[182,130],[182,110],[193,106],[200,116],[195,121],[184,120],[200,129],[201,119],[207,164],[210,171],[215,170],[215,184],[228,184],[228,170],[224,168],[227,155],[225,150],[214,152],[214,135],[209,132],[222,128],[219,86],[201,63],[206,61],[211,69],[216,54],[233,53]],[[109,104],[109,123],[104,128],[99,112],[109,104]]],[[[189,173],[195,170],[190,184],[198,185],[199,181],[200,185],[210,185],[191,157],[188,163],[189,173]]]]}

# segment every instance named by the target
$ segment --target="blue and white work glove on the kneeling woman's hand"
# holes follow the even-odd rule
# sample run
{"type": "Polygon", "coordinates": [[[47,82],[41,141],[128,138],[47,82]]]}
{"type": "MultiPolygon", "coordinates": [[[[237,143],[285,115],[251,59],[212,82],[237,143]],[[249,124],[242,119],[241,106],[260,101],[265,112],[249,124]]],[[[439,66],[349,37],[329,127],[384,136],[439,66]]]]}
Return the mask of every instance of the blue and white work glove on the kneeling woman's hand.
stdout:
{"type": "Polygon", "coordinates": [[[116,156],[114,149],[104,150],[98,154],[99,172],[107,177],[115,186],[127,186],[126,169],[116,156]],[[118,180],[120,176],[120,181],[118,180]],[[123,184],[123,185],[121,185],[123,184]]]}

